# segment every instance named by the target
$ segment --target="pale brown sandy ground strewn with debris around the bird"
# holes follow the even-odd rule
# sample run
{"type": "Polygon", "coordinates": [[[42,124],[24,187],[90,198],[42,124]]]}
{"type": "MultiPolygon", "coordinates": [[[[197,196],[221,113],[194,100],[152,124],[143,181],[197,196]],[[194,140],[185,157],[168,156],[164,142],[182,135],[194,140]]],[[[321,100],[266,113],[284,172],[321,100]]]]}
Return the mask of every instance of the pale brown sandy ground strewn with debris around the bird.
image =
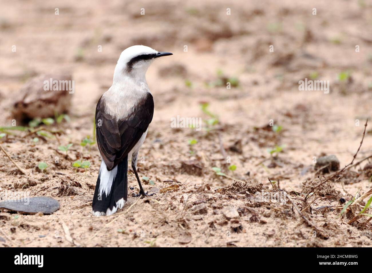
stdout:
{"type": "MultiPolygon", "coordinates": [[[[325,180],[317,178],[314,157],[336,155],[341,168],[349,164],[371,118],[371,12],[368,0],[2,3],[0,126],[12,126],[17,92],[33,76],[70,73],[75,93],[71,121],[48,126],[61,130],[57,138],[34,143],[36,134],[12,131],[0,140],[29,174],[0,153],[1,193],[48,196],[61,204],[52,215],[2,211],[0,246],[370,246],[368,217],[348,224],[360,207],[338,217],[340,198],[347,202],[371,188],[371,174],[363,170],[368,160],[303,199],[325,180]],[[137,44],[174,53],[147,72],[155,112],[138,171],[152,181],[144,181],[145,190],[156,195],[132,197],[138,184],[129,172],[124,208],[97,218],[91,203],[99,152],[80,142],[93,136],[95,106],[112,83],[120,53],[137,44]],[[346,72],[349,78],[342,79],[346,72]],[[299,91],[305,78],[329,80],[330,92],[299,91]],[[237,86],[227,89],[227,79],[237,86]],[[218,119],[210,130],[201,102],[218,119]],[[201,118],[205,126],[172,128],[177,115],[201,118]],[[274,132],[270,120],[282,129],[274,132]],[[197,143],[190,145],[193,139],[197,143]],[[69,143],[65,156],[57,148],[69,143]],[[267,149],[276,145],[285,146],[273,158],[267,149]],[[87,174],[74,172],[77,159],[90,161],[87,174]],[[39,162],[49,165],[46,172],[39,162]],[[257,190],[286,192],[293,203],[258,202],[257,190]]],[[[355,162],[372,154],[371,126],[355,162]]]]}

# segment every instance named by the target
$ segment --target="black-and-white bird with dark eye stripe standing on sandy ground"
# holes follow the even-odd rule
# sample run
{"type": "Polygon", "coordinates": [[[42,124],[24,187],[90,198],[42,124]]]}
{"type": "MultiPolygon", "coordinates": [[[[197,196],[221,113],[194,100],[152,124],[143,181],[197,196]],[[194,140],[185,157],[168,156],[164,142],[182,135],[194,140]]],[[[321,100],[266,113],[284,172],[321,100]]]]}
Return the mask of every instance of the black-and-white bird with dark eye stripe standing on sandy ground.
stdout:
{"type": "Polygon", "coordinates": [[[128,159],[140,192],[148,196],[137,172],[137,157],[153,119],[154,100],[146,82],[151,63],[170,52],[148,46],[125,49],[115,66],[112,86],[103,93],[96,107],[97,146],[102,158],[92,201],[94,216],[114,214],[127,201],[128,159]]]}

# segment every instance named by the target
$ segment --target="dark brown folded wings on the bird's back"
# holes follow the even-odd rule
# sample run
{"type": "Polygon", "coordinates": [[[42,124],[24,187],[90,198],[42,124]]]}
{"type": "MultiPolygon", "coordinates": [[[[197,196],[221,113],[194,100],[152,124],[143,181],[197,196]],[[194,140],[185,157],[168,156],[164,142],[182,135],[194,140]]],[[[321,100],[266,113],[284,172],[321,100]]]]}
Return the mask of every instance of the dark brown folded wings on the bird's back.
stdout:
{"type": "Polygon", "coordinates": [[[104,101],[99,100],[96,108],[97,145],[109,171],[137,144],[153,119],[153,113],[154,101],[150,93],[135,106],[131,115],[119,120],[106,114],[104,101]]]}

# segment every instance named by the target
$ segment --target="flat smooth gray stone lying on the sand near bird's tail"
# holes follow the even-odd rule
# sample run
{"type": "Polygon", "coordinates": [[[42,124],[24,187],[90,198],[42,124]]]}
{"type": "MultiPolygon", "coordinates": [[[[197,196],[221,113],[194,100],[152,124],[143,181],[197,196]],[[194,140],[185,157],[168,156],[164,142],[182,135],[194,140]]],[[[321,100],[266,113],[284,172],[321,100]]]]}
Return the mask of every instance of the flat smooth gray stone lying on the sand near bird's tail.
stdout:
{"type": "Polygon", "coordinates": [[[0,202],[0,208],[17,211],[21,213],[44,213],[52,214],[60,209],[60,203],[51,197],[39,196],[23,198],[19,200],[9,200],[0,202]]]}

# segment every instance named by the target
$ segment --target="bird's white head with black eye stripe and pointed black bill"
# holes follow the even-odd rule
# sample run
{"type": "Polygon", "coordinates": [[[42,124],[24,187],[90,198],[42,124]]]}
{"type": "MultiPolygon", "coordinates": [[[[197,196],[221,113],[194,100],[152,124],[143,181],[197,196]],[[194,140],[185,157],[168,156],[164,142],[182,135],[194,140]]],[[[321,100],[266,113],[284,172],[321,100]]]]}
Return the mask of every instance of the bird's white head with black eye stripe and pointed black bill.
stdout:
{"type": "Polygon", "coordinates": [[[155,58],[173,55],[169,52],[158,52],[148,46],[131,46],[125,49],[118,60],[114,72],[114,82],[125,76],[143,79],[155,58]]]}

